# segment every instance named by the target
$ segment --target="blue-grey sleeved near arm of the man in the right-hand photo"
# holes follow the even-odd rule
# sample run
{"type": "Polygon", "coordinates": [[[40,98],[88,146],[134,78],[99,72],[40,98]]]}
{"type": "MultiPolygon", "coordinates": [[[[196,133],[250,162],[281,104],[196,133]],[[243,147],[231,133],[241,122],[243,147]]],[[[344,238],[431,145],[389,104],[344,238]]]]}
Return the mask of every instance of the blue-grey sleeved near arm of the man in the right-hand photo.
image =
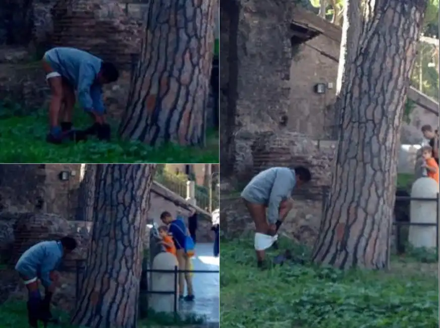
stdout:
{"type": "Polygon", "coordinates": [[[280,170],[273,181],[272,190],[269,196],[267,220],[274,224],[279,219],[280,204],[292,194],[295,186],[295,177],[290,170],[280,170]]]}

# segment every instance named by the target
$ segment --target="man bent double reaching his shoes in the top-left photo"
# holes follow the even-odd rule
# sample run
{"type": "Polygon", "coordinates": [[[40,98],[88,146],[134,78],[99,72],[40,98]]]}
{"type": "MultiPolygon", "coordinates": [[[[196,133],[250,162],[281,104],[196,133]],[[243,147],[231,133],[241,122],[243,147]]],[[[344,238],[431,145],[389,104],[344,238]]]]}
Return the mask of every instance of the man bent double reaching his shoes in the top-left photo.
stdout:
{"type": "Polygon", "coordinates": [[[68,47],[48,50],[44,54],[42,65],[51,91],[47,142],[61,143],[65,138],[85,140],[87,135],[96,135],[99,140],[109,140],[111,131],[104,120],[102,85],[118,80],[119,72],[115,65],[86,51],[68,47]],[[94,120],[94,124],[85,131],[72,129],[75,90],[84,111],[94,120]],[[63,104],[64,111],[61,113],[63,104]]]}

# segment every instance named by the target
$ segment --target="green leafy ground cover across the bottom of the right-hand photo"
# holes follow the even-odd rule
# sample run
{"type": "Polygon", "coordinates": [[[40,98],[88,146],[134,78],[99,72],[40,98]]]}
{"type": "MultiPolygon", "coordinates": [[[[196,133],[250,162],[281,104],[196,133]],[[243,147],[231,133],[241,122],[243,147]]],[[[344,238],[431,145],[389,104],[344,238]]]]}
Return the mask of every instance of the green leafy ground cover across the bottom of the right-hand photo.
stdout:
{"type": "MultiPolygon", "coordinates": [[[[225,327],[438,327],[438,262],[393,259],[389,271],[284,264],[260,271],[251,239],[222,241],[220,320],[225,327]]],[[[285,249],[304,249],[281,240],[285,249]]]]}

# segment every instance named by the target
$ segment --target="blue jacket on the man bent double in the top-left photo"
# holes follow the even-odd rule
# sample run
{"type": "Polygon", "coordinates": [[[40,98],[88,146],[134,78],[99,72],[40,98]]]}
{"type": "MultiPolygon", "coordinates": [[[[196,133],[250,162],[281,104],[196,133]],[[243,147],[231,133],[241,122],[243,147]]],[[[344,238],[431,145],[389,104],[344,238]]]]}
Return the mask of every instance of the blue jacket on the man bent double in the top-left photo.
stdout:
{"type": "Polygon", "coordinates": [[[52,48],[44,54],[50,67],[67,78],[78,91],[78,101],[86,111],[104,113],[102,87],[96,83],[102,60],[83,50],[52,48]]]}

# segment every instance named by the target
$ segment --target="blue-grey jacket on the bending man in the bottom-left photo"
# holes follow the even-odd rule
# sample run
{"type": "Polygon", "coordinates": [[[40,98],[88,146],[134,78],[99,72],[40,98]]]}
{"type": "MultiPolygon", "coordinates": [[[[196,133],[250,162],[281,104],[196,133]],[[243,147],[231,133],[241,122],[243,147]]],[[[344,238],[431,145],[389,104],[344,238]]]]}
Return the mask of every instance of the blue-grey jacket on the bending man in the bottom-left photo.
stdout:
{"type": "Polygon", "coordinates": [[[47,288],[52,283],[49,277],[50,271],[59,267],[63,253],[63,246],[59,241],[43,241],[24,252],[15,269],[26,278],[39,278],[47,288]]]}

